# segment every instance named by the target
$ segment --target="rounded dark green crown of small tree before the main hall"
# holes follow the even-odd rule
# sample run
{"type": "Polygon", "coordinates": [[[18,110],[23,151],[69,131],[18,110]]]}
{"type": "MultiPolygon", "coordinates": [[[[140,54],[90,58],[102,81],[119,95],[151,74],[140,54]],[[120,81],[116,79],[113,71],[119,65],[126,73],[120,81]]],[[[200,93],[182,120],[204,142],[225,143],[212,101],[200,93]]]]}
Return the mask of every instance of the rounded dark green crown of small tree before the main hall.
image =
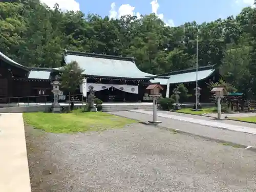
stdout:
{"type": "Polygon", "coordinates": [[[76,61],[72,61],[61,69],[61,87],[63,90],[74,93],[82,83],[82,72],[76,61]]]}

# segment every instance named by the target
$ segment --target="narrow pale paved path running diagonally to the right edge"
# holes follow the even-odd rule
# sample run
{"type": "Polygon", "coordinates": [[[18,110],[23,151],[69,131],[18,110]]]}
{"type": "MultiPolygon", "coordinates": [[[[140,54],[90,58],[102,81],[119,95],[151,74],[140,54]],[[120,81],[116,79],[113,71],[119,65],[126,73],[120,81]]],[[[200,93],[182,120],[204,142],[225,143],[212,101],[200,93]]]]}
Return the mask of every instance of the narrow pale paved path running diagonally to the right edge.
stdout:
{"type": "MultiPolygon", "coordinates": [[[[148,115],[153,114],[152,111],[144,111],[144,110],[131,110],[131,111],[137,112],[137,113],[144,113],[144,114],[148,114],[148,115]]],[[[196,124],[205,125],[205,126],[217,127],[217,128],[220,128],[220,129],[227,129],[227,130],[231,130],[231,131],[238,131],[238,132],[256,134],[256,129],[254,129],[252,127],[223,123],[223,122],[220,122],[218,120],[210,121],[210,120],[199,119],[196,116],[194,116],[194,118],[184,117],[184,116],[182,117],[182,116],[178,116],[178,115],[161,113],[161,112],[158,112],[157,116],[170,118],[170,119],[175,119],[175,120],[180,120],[180,121],[191,122],[191,123],[196,123],[196,124]]]]}

